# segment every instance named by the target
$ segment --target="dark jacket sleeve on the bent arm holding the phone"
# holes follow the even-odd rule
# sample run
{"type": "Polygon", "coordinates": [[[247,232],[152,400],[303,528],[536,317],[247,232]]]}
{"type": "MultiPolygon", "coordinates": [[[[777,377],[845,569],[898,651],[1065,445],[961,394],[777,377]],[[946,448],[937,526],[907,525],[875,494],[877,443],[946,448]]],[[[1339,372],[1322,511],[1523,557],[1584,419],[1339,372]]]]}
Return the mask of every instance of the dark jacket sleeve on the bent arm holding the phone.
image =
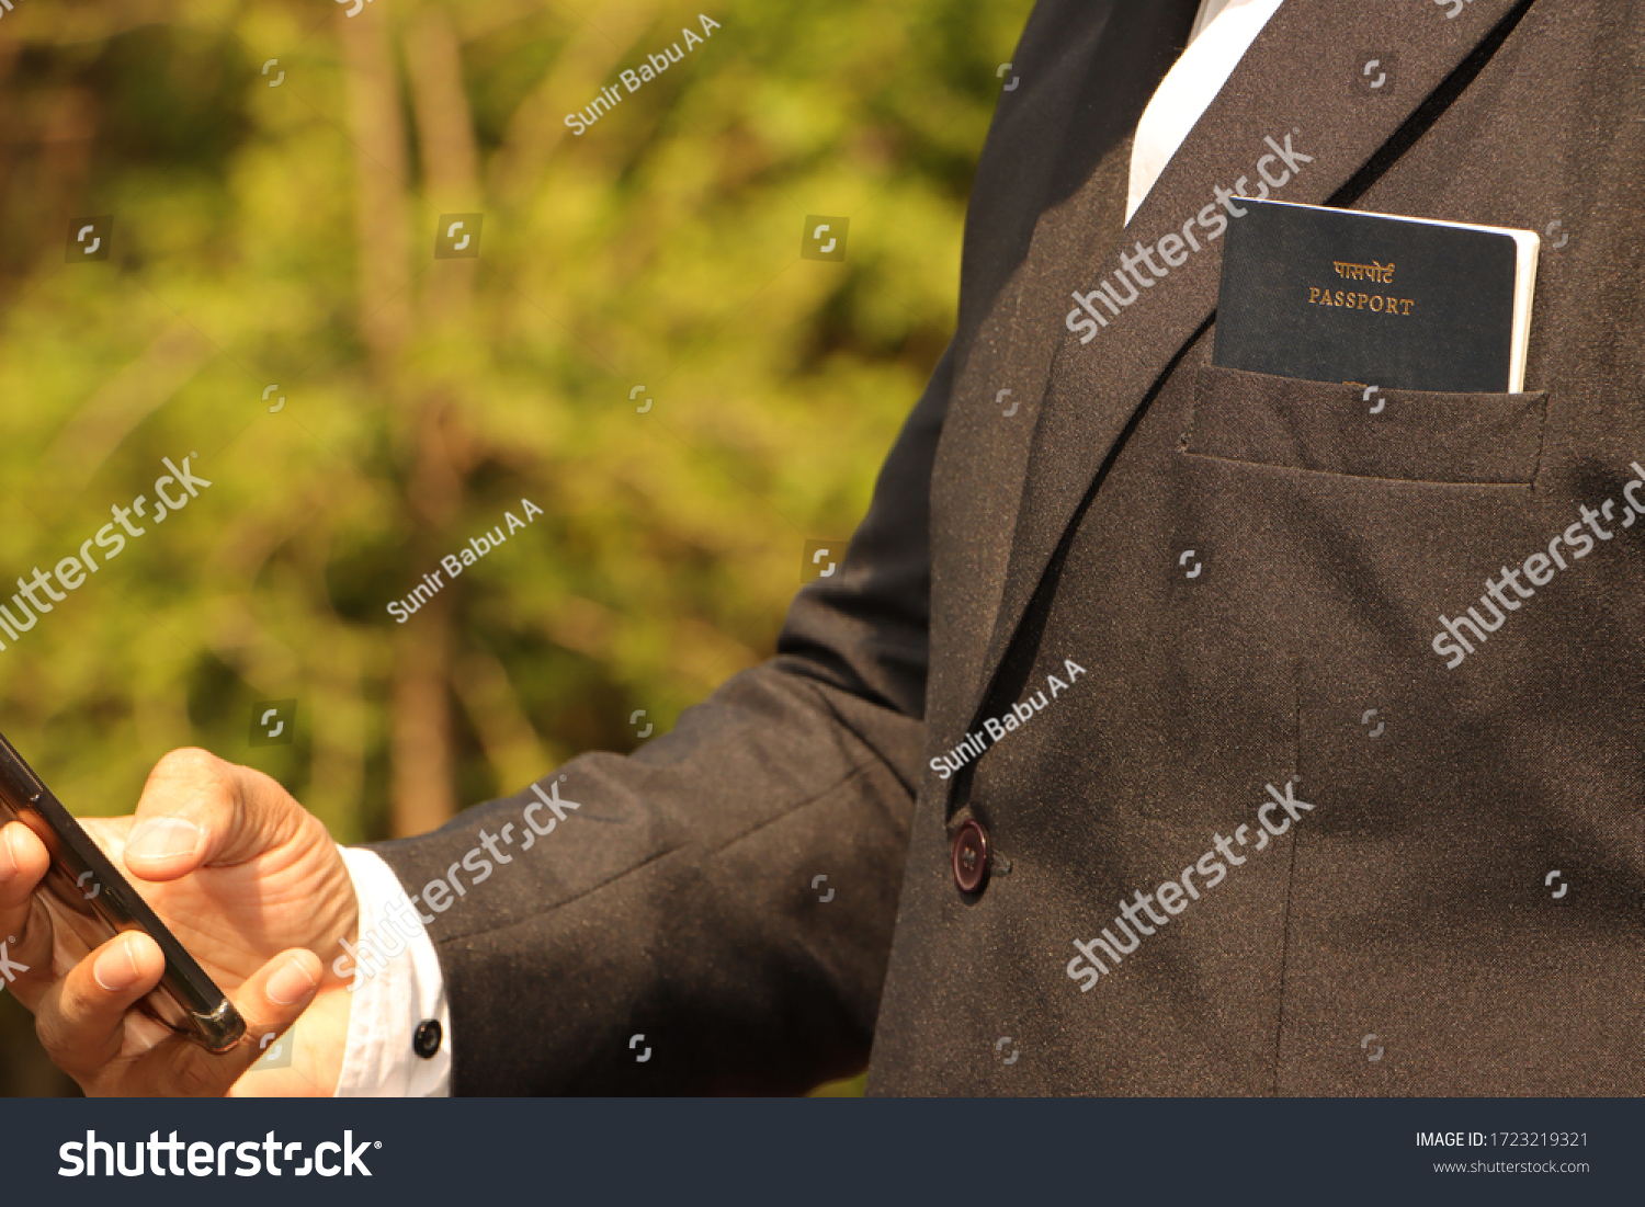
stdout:
{"type": "Polygon", "coordinates": [[[408,893],[452,886],[428,932],[454,1094],[795,1094],[867,1064],[924,743],[951,357],[775,658],[633,755],[540,781],[558,811],[526,789],[373,847],[408,893]]]}

